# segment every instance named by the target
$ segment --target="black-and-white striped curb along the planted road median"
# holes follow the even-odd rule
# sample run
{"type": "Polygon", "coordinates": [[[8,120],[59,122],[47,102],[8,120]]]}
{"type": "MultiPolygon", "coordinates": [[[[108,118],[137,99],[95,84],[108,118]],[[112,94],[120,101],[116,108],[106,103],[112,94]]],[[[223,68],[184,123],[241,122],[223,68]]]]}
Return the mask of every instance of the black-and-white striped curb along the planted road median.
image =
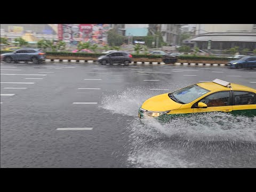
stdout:
{"type": "MultiPolygon", "coordinates": [[[[45,59],[45,62],[79,62],[79,63],[93,63],[93,62],[97,62],[96,60],[61,60],[61,59],[45,59]]],[[[148,62],[148,61],[132,61],[131,63],[129,63],[129,65],[165,65],[164,62],[148,62]]],[[[169,64],[168,64],[169,65],[169,64]]],[[[225,67],[227,66],[227,64],[225,63],[221,63],[221,64],[217,64],[217,63],[180,63],[180,62],[175,62],[171,65],[175,65],[175,66],[220,66],[220,67],[225,67]]]]}

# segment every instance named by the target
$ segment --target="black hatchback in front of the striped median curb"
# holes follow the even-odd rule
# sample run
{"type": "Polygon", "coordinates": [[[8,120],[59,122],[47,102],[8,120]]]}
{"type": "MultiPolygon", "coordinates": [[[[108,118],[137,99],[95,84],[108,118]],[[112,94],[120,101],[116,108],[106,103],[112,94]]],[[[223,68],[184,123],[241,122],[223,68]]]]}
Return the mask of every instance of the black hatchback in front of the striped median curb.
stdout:
{"type": "Polygon", "coordinates": [[[100,56],[97,61],[101,63],[101,65],[106,65],[107,63],[110,63],[110,65],[113,63],[129,65],[129,63],[132,62],[132,55],[126,52],[114,52],[100,56]]]}

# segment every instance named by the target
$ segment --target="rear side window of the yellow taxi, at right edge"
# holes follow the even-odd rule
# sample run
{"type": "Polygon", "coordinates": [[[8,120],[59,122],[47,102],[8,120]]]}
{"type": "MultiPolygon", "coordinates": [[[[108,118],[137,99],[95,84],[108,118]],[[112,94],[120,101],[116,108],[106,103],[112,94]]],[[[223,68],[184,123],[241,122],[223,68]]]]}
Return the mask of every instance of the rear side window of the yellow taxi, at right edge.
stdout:
{"type": "Polygon", "coordinates": [[[234,91],[234,105],[254,105],[256,104],[256,94],[246,91],[234,91]]]}

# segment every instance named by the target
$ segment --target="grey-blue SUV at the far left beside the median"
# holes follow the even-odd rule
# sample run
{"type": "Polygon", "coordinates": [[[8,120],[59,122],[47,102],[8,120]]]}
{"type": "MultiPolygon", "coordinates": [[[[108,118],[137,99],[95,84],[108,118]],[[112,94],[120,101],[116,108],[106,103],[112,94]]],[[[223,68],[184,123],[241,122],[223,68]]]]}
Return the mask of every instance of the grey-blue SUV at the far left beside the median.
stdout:
{"type": "Polygon", "coordinates": [[[33,63],[39,63],[45,61],[45,53],[41,49],[19,49],[12,53],[1,54],[1,60],[6,63],[19,62],[19,61],[32,61],[33,63]]]}

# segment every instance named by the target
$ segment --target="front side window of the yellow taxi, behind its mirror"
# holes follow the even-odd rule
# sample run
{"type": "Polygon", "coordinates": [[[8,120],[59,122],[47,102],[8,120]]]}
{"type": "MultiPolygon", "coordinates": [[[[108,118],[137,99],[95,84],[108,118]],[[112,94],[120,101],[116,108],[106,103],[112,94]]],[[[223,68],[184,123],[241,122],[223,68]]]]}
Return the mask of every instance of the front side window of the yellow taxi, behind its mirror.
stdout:
{"type": "Polygon", "coordinates": [[[218,93],[213,93],[204,99],[201,99],[198,102],[203,102],[207,107],[220,107],[220,106],[229,106],[229,91],[222,91],[218,93]]]}

